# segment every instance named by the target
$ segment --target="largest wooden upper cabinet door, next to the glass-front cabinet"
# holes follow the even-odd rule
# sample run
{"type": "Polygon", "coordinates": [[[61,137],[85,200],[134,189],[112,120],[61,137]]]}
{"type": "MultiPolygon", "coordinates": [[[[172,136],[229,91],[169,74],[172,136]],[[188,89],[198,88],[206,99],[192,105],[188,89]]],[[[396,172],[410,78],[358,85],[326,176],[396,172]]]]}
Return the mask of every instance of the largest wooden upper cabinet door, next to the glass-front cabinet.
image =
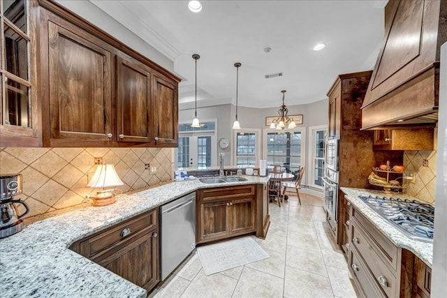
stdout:
{"type": "Polygon", "coordinates": [[[107,144],[112,141],[110,52],[94,36],[71,27],[48,24],[51,144],[107,144]]]}

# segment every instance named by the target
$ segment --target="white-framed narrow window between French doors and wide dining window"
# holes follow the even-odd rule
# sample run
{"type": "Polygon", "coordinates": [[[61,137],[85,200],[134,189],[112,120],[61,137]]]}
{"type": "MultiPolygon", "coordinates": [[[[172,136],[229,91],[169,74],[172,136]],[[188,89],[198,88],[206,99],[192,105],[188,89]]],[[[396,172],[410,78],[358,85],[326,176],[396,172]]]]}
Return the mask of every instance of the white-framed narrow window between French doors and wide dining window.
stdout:
{"type": "Polygon", "coordinates": [[[244,129],[235,131],[235,165],[255,167],[259,159],[259,130],[244,129]]]}

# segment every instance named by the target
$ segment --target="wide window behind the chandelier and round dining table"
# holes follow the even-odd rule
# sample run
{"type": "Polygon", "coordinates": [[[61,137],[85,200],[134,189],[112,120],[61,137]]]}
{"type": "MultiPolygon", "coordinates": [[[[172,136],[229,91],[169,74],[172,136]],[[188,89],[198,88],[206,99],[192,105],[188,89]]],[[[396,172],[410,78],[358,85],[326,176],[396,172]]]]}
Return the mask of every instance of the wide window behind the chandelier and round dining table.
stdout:
{"type": "Polygon", "coordinates": [[[283,165],[284,170],[297,174],[304,165],[304,129],[291,131],[265,130],[265,158],[267,165],[283,165]]]}

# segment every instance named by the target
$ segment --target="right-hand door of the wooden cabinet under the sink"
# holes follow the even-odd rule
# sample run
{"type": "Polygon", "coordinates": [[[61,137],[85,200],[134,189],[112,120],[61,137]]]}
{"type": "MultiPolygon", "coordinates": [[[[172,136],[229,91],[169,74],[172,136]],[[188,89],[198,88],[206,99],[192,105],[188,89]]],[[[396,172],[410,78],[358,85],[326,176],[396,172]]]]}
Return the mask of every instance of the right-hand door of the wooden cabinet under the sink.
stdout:
{"type": "Polygon", "coordinates": [[[256,230],[256,200],[246,198],[230,202],[230,234],[245,234],[256,230]]]}

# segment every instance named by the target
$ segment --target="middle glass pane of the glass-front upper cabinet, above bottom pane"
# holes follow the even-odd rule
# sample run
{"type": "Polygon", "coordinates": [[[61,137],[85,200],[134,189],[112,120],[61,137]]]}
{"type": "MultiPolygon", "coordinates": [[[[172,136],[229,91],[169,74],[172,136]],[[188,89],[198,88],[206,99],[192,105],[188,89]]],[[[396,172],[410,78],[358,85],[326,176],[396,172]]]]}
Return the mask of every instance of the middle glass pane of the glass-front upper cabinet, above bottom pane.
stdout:
{"type": "Polygon", "coordinates": [[[6,70],[28,80],[27,47],[28,41],[13,29],[4,25],[6,70]]]}

